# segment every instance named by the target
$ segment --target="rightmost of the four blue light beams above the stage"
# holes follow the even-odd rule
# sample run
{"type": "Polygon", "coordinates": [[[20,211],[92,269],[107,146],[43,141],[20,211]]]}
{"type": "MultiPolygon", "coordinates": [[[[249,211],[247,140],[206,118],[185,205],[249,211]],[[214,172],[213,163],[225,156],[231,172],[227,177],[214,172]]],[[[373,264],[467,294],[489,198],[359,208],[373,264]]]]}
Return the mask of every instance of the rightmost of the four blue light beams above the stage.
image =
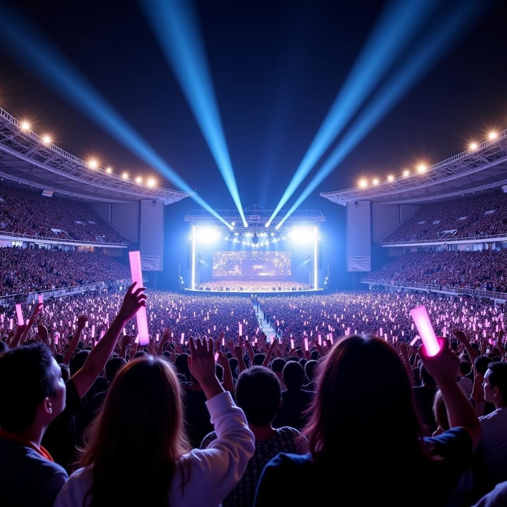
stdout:
{"type": "Polygon", "coordinates": [[[478,6],[479,4],[476,4],[473,0],[463,2],[459,8],[452,11],[451,15],[431,30],[431,33],[417,46],[417,49],[406,58],[405,64],[374,95],[367,107],[347,130],[338,146],[311,179],[308,186],[296,199],[296,202],[276,225],[277,229],[382,120],[391,108],[409,92],[410,88],[430,68],[431,64],[444,56],[445,49],[450,48],[458,38],[459,33],[477,14],[478,6]]]}

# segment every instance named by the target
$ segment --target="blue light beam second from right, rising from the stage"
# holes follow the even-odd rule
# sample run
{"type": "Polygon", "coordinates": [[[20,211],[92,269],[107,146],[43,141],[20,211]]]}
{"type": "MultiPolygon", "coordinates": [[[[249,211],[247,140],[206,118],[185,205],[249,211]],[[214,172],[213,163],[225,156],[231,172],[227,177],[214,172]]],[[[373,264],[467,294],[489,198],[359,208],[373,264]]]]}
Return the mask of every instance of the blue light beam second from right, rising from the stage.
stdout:
{"type": "Polygon", "coordinates": [[[394,0],[389,3],[363,46],[345,83],[313,138],[266,227],[296,192],[312,168],[331,146],[380,83],[392,63],[417,34],[438,0],[394,0]]]}

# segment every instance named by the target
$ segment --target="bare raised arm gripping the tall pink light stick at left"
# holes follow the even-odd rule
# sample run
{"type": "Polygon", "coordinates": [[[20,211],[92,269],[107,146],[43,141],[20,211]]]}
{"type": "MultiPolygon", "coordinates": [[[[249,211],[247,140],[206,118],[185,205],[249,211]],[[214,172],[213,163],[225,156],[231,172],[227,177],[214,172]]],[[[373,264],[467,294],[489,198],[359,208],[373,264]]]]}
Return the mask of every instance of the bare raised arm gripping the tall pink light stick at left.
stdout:
{"type": "Polygon", "coordinates": [[[95,379],[104,369],[107,360],[115,349],[116,342],[124,325],[137,313],[141,306],[146,306],[145,287],[139,287],[134,291],[134,286],[135,283],[128,288],[118,315],[102,339],[99,340],[97,345],[88,354],[83,368],[71,377],[81,397],[87,393],[93,382],[95,382],[95,379]]]}

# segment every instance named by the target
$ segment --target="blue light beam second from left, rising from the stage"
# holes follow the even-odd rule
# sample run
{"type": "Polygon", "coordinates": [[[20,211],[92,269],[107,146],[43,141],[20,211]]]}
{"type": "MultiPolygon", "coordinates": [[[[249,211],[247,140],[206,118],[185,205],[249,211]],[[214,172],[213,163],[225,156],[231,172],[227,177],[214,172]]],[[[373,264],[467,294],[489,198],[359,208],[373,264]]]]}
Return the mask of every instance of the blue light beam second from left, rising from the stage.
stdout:
{"type": "Polygon", "coordinates": [[[197,15],[189,0],[140,0],[222,177],[247,227],[197,15]]]}

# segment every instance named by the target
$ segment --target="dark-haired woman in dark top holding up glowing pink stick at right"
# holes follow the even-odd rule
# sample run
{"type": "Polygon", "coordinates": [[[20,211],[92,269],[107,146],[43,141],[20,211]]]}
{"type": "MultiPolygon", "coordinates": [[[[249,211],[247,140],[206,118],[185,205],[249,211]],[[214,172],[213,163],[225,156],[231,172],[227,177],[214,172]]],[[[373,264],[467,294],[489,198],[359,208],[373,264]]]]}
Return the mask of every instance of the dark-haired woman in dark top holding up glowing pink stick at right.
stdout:
{"type": "Polygon", "coordinates": [[[456,382],[459,359],[419,354],[444,398],[451,429],[424,438],[411,379],[396,351],[374,336],[350,336],[324,357],[303,434],[305,456],[279,454],[265,467],[256,505],[333,503],[446,505],[480,439],[472,405],[456,382]],[[305,487],[276,487],[304,478],[305,487]]]}

